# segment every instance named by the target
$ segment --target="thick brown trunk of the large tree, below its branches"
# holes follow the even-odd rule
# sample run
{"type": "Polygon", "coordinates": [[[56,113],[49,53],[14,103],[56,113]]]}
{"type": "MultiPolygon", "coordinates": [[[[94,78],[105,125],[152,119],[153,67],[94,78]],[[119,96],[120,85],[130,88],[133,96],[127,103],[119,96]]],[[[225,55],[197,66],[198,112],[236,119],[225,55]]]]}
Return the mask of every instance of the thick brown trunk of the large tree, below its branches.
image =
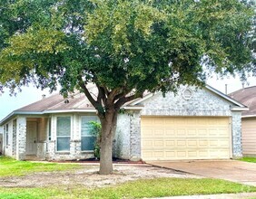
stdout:
{"type": "Polygon", "coordinates": [[[101,140],[101,158],[100,158],[100,175],[109,175],[113,172],[113,135],[117,120],[117,112],[109,110],[102,123],[102,140],[101,140]]]}

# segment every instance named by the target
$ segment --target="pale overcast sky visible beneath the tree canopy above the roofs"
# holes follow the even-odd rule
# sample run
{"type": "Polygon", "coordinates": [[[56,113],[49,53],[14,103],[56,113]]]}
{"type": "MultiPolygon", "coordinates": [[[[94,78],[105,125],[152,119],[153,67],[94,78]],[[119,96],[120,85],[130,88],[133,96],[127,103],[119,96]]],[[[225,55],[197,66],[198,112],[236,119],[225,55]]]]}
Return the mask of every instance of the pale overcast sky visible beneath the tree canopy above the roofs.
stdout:
{"type": "MultiPolygon", "coordinates": [[[[249,85],[246,84],[245,87],[256,85],[256,77],[248,78],[247,81],[249,85]]],[[[221,80],[213,77],[212,79],[209,79],[207,83],[214,89],[220,90],[223,93],[225,92],[225,84],[227,84],[228,93],[242,88],[239,78],[225,78],[221,80]]],[[[22,92],[17,93],[16,96],[10,96],[8,90],[5,90],[4,94],[0,94],[0,120],[5,118],[15,109],[22,108],[34,101],[41,100],[43,94],[46,96],[50,95],[48,90],[37,90],[33,86],[23,88],[22,92]]]]}

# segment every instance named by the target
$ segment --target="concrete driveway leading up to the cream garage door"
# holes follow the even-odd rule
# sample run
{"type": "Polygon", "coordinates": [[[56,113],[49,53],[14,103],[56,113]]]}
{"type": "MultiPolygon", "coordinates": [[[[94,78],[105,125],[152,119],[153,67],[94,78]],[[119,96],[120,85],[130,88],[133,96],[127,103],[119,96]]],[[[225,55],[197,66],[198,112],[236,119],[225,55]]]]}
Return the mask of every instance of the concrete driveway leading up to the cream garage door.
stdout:
{"type": "Polygon", "coordinates": [[[148,161],[153,166],[256,186],[256,163],[237,160],[148,161]]]}

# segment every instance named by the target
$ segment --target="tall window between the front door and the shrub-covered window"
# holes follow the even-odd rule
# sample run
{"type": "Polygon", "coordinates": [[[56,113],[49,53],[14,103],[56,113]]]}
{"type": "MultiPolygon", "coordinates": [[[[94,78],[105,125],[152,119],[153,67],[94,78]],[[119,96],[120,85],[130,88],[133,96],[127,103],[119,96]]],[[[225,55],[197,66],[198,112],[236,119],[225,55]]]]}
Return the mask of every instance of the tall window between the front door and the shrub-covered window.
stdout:
{"type": "Polygon", "coordinates": [[[70,150],[71,118],[57,118],[57,151],[70,150]]]}

